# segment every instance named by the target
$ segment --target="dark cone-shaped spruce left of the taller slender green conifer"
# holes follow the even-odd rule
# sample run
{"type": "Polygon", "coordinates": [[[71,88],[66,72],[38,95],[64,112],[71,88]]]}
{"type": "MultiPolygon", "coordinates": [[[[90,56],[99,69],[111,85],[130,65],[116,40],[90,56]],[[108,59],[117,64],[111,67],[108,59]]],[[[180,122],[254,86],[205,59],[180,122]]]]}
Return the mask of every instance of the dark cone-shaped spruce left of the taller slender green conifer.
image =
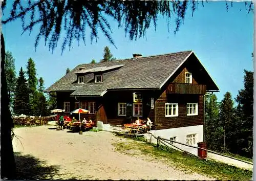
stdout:
{"type": "Polygon", "coordinates": [[[27,80],[24,76],[22,67],[19,71],[19,76],[17,78],[17,84],[15,88],[15,96],[13,103],[14,114],[16,115],[29,115],[29,88],[27,80]]]}

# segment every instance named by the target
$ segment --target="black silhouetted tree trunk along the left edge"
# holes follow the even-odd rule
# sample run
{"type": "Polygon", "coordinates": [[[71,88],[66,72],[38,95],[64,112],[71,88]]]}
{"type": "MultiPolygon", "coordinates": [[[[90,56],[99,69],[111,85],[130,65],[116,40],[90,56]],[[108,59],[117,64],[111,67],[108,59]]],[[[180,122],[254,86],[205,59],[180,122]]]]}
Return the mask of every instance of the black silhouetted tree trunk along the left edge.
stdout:
{"type": "Polygon", "coordinates": [[[11,130],[13,120],[9,109],[9,97],[5,75],[5,41],[1,34],[1,178],[15,178],[16,168],[12,148],[11,130]]]}

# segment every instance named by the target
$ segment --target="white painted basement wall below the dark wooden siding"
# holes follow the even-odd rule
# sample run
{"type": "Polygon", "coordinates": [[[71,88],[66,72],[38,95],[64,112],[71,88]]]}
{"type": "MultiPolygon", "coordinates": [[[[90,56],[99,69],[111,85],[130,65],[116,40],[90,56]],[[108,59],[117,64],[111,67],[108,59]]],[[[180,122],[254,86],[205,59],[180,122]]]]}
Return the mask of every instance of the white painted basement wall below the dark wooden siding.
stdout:
{"type": "MultiPolygon", "coordinates": [[[[181,142],[186,144],[186,135],[187,134],[196,134],[196,144],[192,146],[197,147],[198,142],[203,141],[203,125],[198,126],[187,126],[187,127],[179,127],[179,128],[171,128],[171,129],[160,129],[160,130],[151,130],[150,131],[155,137],[161,137],[165,139],[170,139],[170,137],[176,137],[177,142],[181,142]]],[[[145,134],[146,139],[150,139],[150,134],[145,134]]],[[[157,144],[157,140],[152,137],[152,142],[157,144]]],[[[181,145],[178,143],[174,143],[175,146],[190,152],[192,154],[197,155],[197,148],[190,148],[185,145],[181,145]]],[[[174,148],[174,147],[173,147],[174,148]]]]}

